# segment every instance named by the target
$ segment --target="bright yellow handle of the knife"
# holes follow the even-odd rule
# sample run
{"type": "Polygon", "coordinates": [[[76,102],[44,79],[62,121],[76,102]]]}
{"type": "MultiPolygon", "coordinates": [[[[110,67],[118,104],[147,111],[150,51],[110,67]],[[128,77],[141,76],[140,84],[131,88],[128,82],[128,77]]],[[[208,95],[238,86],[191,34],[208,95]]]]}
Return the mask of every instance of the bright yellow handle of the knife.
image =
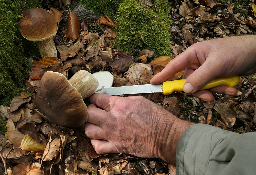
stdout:
{"type": "MultiPolygon", "coordinates": [[[[174,91],[183,91],[183,85],[186,79],[167,81],[163,83],[162,89],[164,95],[169,95],[174,91]]],[[[226,85],[228,87],[235,87],[239,83],[239,76],[233,76],[229,78],[217,77],[207,83],[201,90],[210,89],[220,85],[226,85]]]]}

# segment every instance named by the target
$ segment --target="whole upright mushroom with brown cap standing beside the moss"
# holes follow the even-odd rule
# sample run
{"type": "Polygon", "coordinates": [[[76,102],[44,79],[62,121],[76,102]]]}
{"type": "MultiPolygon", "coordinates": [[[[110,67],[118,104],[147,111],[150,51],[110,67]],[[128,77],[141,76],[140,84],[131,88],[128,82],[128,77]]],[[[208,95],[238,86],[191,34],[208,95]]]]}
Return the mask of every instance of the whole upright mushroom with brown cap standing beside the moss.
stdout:
{"type": "Polygon", "coordinates": [[[42,8],[30,8],[22,12],[19,31],[24,38],[37,43],[42,58],[57,57],[53,41],[58,25],[54,15],[42,8]]]}

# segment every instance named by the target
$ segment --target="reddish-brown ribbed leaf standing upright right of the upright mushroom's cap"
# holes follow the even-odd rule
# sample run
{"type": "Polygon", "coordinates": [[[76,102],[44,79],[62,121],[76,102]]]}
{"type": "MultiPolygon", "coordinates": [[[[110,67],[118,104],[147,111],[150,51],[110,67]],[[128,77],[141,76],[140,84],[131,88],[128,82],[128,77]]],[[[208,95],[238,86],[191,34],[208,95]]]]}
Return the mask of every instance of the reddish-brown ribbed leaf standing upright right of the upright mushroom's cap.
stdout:
{"type": "Polygon", "coordinates": [[[80,36],[80,22],[77,14],[69,11],[67,22],[67,38],[75,41],[80,36]]]}

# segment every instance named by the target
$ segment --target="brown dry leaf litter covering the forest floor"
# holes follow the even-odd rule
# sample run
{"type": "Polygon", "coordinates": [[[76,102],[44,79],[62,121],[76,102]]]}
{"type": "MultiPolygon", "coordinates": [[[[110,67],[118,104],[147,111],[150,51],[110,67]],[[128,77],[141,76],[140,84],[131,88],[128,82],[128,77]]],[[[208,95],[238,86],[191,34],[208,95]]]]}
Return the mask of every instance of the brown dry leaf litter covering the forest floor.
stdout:
{"type": "MultiPolygon", "coordinates": [[[[250,2],[248,14],[244,16],[242,11],[234,10],[237,2],[221,4],[215,0],[186,0],[172,3],[173,57],[196,42],[254,34],[255,4],[250,2]]],[[[88,24],[78,21],[76,14],[68,9],[58,9],[56,6],[50,10],[56,21],[63,23],[62,18],[68,19],[67,29],[59,29],[55,36],[58,58],[33,61],[26,82],[30,93],[22,92],[13,99],[10,107],[0,106],[1,117],[7,120],[7,131],[1,136],[0,148],[6,162],[11,165],[8,174],[175,174],[176,168],[160,159],[124,153],[99,155],[85,136],[84,125],[74,130],[60,127],[49,123],[37,110],[35,93],[42,75],[48,70],[60,72],[68,79],[79,70],[91,73],[109,71],[114,75],[114,87],[131,86],[148,84],[173,59],[164,55],[152,59],[154,51],[147,49],[141,50],[136,58],[118,52],[111,44],[118,33],[108,16],[88,24]],[[95,27],[96,32],[92,30],[95,27]]],[[[181,78],[183,73],[177,73],[171,80],[181,78]]],[[[140,95],[179,118],[244,133],[256,131],[255,85],[254,78],[241,77],[236,96],[214,94],[215,100],[211,103],[184,92],[174,92],[169,96],[162,93],[140,95]]]]}

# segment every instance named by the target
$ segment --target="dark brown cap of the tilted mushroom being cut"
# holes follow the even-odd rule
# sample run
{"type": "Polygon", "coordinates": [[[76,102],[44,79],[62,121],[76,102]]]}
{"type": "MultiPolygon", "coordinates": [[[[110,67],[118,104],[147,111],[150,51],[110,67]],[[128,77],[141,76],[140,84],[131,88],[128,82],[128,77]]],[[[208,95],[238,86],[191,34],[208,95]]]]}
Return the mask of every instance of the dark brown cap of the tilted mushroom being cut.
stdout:
{"type": "Polygon", "coordinates": [[[60,126],[77,128],[88,119],[88,110],[82,96],[58,72],[47,71],[42,76],[35,103],[50,122],[60,126]]]}

